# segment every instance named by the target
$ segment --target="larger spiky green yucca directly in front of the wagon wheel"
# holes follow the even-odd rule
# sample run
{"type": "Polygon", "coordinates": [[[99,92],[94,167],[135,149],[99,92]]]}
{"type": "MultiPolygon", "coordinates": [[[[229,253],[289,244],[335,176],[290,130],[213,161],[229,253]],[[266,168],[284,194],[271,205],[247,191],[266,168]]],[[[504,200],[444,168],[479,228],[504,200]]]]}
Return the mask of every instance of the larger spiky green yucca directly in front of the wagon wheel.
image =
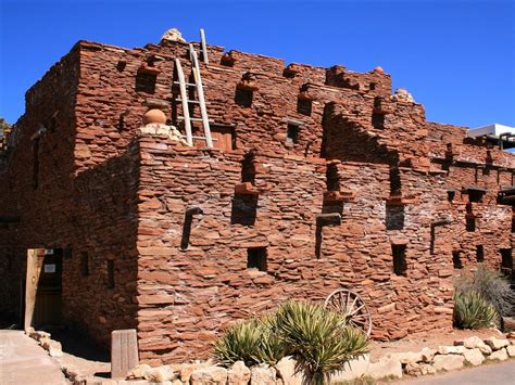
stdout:
{"type": "Polygon", "coordinates": [[[368,351],[362,331],[347,325],[344,317],[318,305],[286,303],[277,310],[276,318],[282,338],[310,383],[323,384],[332,371],[368,351]]]}

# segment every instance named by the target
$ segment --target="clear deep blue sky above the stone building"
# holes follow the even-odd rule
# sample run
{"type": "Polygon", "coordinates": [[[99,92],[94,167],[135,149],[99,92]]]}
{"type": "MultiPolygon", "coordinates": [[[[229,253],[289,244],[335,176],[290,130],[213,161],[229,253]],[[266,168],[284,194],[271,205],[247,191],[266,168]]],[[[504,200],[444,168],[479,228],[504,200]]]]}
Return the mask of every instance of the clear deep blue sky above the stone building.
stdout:
{"type": "Polygon", "coordinates": [[[1,1],[0,116],[80,39],[122,47],[187,40],[321,66],[380,65],[428,120],[515,126],[515,1],[1,1]]]}

